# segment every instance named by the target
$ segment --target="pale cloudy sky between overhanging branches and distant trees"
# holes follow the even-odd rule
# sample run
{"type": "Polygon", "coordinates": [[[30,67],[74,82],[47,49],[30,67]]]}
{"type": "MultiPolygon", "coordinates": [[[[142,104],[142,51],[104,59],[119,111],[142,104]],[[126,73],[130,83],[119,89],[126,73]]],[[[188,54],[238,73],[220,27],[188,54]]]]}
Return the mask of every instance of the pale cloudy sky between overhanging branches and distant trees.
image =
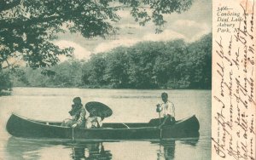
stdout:
{"type": "MultiPolygon", "coordinates": [[[[155,26],[152,22],[146,26],[139,26],[131,17],[129,10],[121,10],[118,14],[121,20],[115,26],[120,30],[115,37],[88,39],[79,33],[66,32],[61,33],[54,43],[62,49],[73,47],[73,55],[76,59],[88,60],[90,54],[109,51],[119,46],[131,46],[143,41],[169,41],[183,38],[185,42],[191,43],[212,31],[211,0],[194,0],[188,11],[165,15],[167,22],[160,34],[155,34],[155,26]]],[[[67,60],[65,57],[60,59],[67,60]]]]}

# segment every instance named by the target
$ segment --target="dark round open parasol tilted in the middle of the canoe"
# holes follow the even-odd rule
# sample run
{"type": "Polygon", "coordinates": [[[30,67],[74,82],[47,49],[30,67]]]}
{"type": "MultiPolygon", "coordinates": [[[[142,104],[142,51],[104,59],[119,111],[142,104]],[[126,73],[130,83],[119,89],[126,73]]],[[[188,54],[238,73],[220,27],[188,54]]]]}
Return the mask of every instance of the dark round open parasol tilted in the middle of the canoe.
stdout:
{"type": "Polygon", "coordinates": [[[113,113],[107,105],[98,101],[90,101],[86,103],[85,108],[96,117],[110,117],[113,113]]]}

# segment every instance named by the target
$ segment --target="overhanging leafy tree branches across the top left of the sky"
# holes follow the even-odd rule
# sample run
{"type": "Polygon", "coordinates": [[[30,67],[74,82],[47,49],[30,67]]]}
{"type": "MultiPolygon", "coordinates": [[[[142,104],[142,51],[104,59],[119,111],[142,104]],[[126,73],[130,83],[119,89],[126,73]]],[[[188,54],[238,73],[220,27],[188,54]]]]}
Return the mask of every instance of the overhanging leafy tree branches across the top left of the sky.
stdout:
{"type": "Polygon", "coordinates": [[[129,9],[140,24],[152,20],[156,32],[165,23],[163,14],[181,13],[192,0],[2,0],[0,1],[0,67],[9,58],[19,57],[32,67],[55,65],[60,49],[53,43],[56,33],[80,32],[84,37],[106,37],[116,31],[119,9],[129,9]]]}

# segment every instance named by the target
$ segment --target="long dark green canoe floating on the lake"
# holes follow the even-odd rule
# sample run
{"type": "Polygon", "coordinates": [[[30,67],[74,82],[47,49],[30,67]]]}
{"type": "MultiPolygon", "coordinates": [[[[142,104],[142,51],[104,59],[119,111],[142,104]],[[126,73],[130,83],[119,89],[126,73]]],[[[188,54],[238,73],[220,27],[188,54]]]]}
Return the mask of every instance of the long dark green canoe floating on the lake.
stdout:
{"type": "Polygon", "coordinates": [[[159,119],[149,123],[103,123],[101,129],[71,129],[61,122],[46,122],[13,113],[6,124],[9,134],[21,138],[72,140],[153,140],[199,136],[199,122],[194,116],[183,118],[158,129],[159,119]]]}

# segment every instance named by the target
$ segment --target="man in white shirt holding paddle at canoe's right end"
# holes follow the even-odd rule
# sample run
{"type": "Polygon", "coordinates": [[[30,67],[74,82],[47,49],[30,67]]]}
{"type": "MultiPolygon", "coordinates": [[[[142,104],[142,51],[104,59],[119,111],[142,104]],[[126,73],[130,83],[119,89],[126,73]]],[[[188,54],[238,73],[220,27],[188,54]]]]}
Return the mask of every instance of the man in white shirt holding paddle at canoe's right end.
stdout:
{"type": "Polygon", "coordinates": [[[168,100],[168,94],[166,92],[161,94],[161,98],[164,103],[156,105],[156,111],[159,112],[160,128],[165,124],[175,123],[175,107],[171,101],[168,100]]]}

